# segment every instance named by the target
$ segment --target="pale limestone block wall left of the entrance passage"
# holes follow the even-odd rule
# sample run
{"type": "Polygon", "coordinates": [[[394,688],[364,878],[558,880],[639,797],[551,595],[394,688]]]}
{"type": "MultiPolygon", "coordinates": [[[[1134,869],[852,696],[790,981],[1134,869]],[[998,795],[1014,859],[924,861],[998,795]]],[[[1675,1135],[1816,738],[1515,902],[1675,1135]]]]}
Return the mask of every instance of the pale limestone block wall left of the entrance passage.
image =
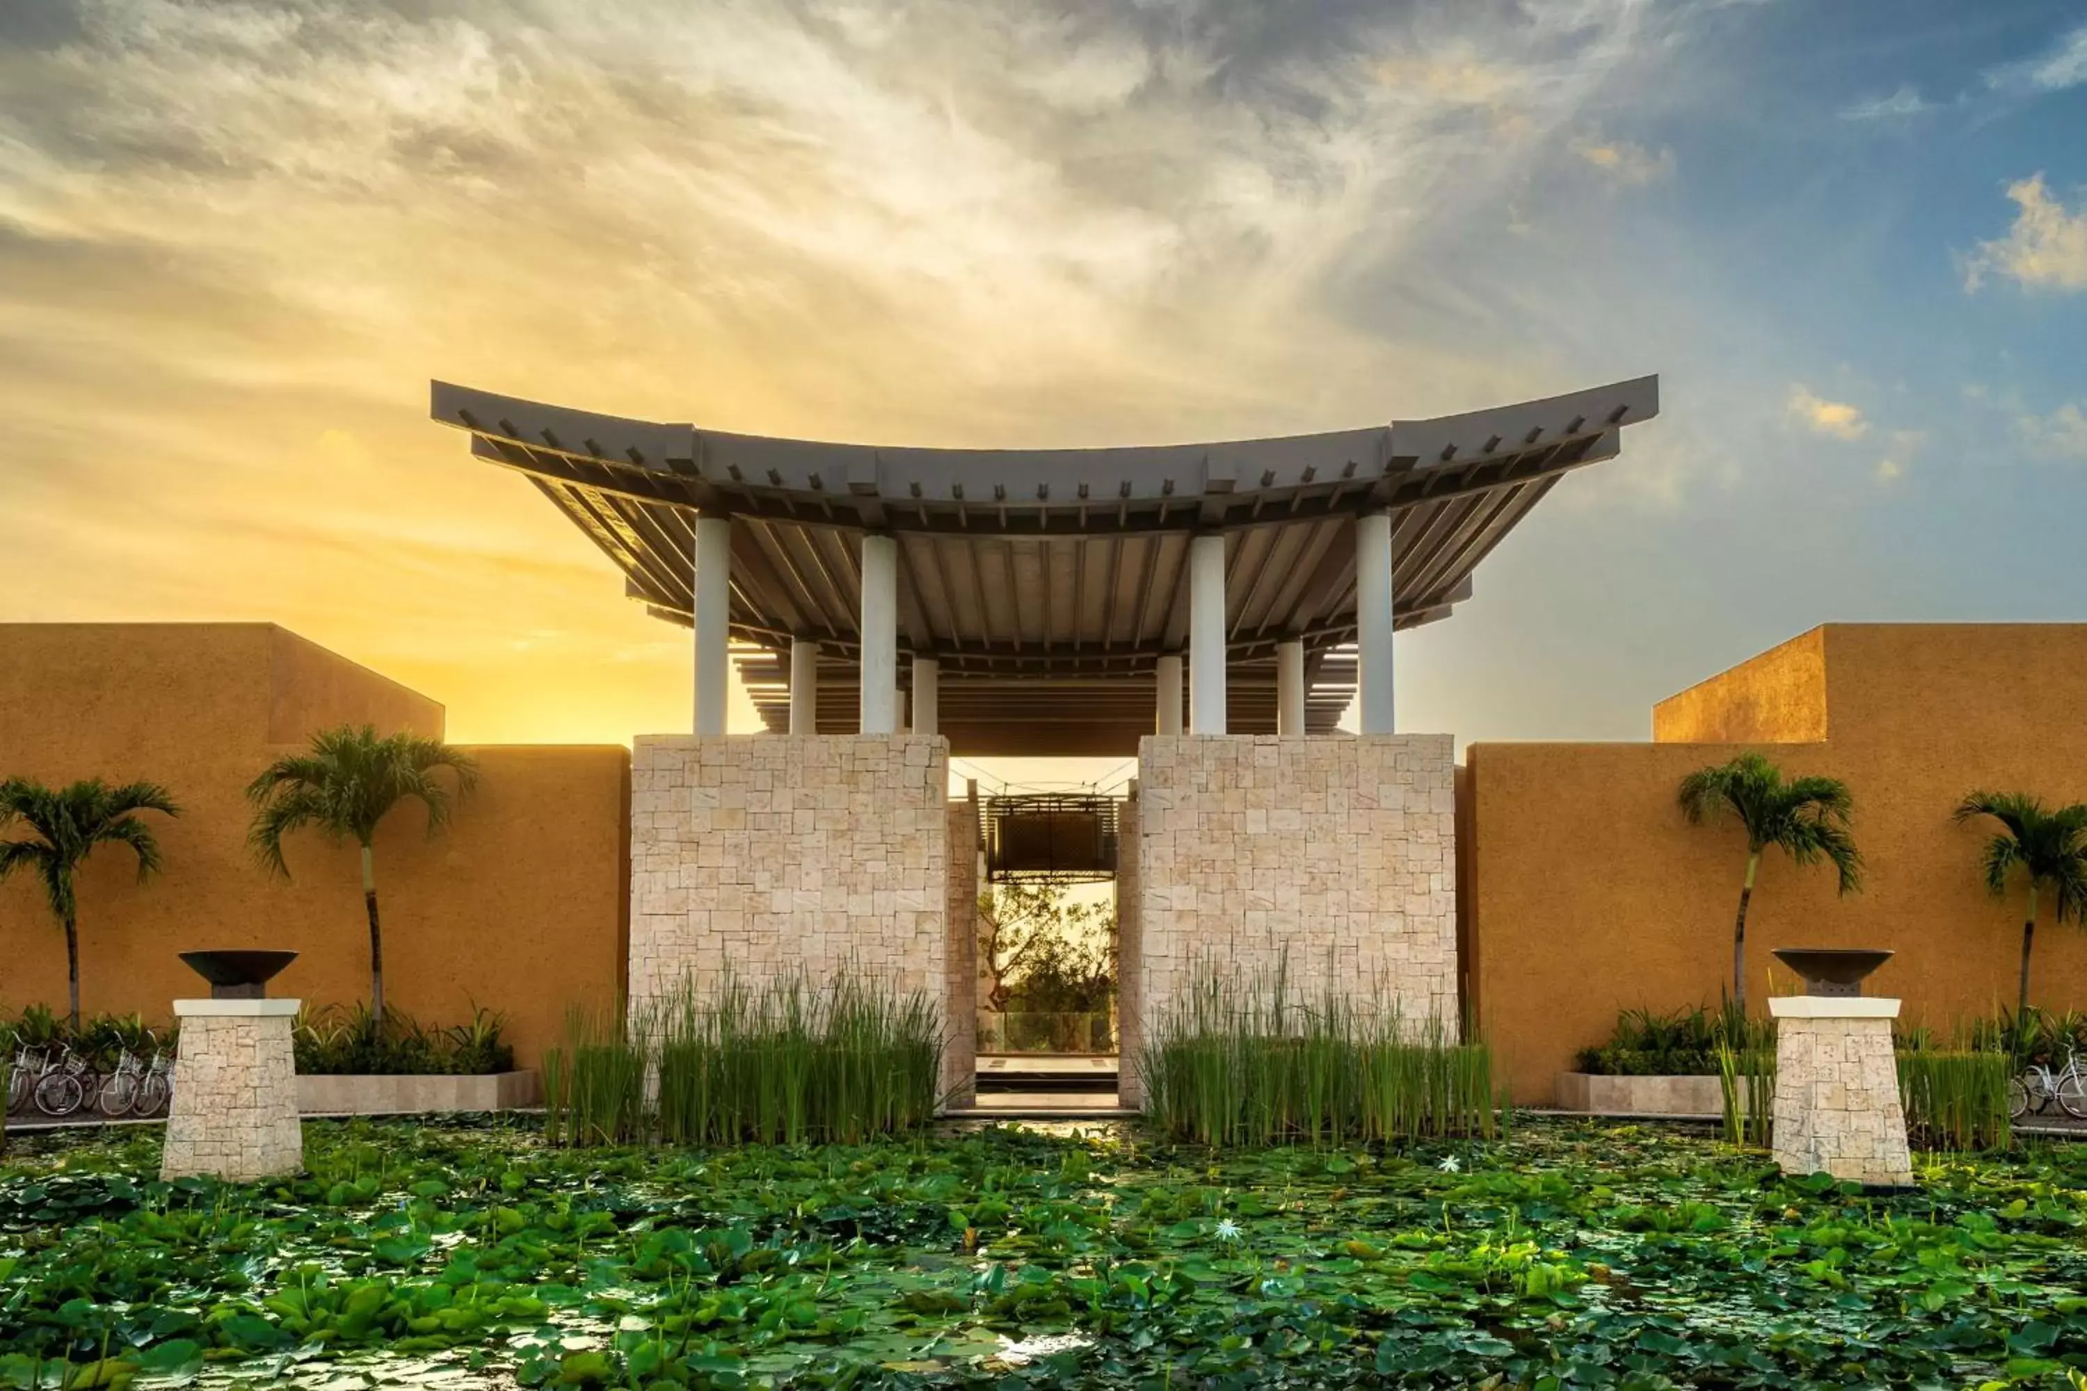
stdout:
{"type": "Polygon", "coordinates": [[[630,751],[630,1007],[854,963],[941,1001],[950,745],[647,734],[630,751]]]}

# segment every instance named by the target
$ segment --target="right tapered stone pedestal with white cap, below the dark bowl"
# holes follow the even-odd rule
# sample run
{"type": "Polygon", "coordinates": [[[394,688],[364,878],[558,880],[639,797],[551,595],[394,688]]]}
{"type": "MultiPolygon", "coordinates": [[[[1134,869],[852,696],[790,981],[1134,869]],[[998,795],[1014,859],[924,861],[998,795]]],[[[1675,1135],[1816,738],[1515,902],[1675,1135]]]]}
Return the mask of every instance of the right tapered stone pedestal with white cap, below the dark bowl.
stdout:
{"type": "Polygon", "coordinates": [[[1782,1172],[1910,1185],[1891,1047],[1899,1001],[1784,995],[1768,1011],[1776,1018],[1774,1155],[1782,1172]]]}

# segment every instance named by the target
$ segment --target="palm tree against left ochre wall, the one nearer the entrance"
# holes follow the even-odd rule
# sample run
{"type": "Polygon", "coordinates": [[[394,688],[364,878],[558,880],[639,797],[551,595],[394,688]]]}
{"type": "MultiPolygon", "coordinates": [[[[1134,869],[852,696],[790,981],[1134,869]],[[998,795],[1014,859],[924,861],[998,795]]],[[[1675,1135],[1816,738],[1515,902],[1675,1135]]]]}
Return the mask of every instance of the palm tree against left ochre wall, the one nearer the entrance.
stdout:
{"type": "Polygon", "coordinates": [[[369,843],[378,822],[405,799],[428,809],[428,834],[449,824],[449,788],[436,770],[455,774],[457,795],[478,784],[478,763],[461,749],[419,734],[378,738],[374,726],[340,726],[311,736],[311,749],[269,763],[246,797],[255,820],[246,843],[255,857],[290,878],[282,838],[315,826],[336,843],[353,838],[363,851],[363,909],[369,913],[369,1011],[384,1020],[384,934],[378,928],[378,878],[369,843]]]}

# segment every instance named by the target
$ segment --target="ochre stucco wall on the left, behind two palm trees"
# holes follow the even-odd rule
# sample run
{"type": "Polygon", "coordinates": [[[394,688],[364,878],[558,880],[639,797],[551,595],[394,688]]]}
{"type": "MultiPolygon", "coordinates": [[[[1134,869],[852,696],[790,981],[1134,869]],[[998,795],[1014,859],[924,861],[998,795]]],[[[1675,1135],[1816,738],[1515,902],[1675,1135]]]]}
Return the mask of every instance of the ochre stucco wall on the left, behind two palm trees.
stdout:
{"type": "MultiPolygon", "coordinates": [[[[271,993],[313,1003],[369,993],[353,847],[292,836],[292,880],[246,851],[246,782],[326,724],[442,732],[442,707],[267,624],[0,626],[0,776],[100,776],[171,788],[154,822],[165,874],[104,847],[79,882],[81,1007],[167,1020],[202,993],[177,951],[303,953],[271,993]]],[[[568,1003],[611,1003],[628,893],[620,747],[482,747],[478,792],[430,840],[417,807],[378,834],[388,1001],[455,1024],[472,1001],[509,1016],[522,1061],[568,1003]]],[[[0,832],[4,834],[4,832],[0,832]]],[[[65,938],[27,878],[0,886],[0,1005],[65,1003],[65,938]]]]}

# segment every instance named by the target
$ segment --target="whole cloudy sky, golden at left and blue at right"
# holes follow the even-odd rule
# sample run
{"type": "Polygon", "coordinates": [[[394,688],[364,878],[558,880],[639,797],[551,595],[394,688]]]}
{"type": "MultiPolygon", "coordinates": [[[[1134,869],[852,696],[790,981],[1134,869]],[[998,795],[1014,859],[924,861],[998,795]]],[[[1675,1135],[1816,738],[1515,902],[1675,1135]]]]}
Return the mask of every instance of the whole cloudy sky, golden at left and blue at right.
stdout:
{"type": "Polygon", "coordinates": [[[1079,446],[1649,371],[1400,728],[2087,619],[2087,0],[0,0],[0,621],[278,621],[465,742],[691,659],[430,377],[1079,446]]]}

